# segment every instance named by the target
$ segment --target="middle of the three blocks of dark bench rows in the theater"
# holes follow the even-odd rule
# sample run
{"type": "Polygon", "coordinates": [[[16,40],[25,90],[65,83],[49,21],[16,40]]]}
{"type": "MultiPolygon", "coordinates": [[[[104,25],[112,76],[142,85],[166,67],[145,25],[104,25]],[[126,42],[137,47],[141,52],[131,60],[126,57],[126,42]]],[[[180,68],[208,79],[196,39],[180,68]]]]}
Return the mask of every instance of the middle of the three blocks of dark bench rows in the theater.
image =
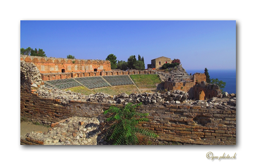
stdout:
{"type": "Polygon", "coordinates": [[[110,86],[101,76],[79,77],[76,80],[89,89],[110,86]]]}

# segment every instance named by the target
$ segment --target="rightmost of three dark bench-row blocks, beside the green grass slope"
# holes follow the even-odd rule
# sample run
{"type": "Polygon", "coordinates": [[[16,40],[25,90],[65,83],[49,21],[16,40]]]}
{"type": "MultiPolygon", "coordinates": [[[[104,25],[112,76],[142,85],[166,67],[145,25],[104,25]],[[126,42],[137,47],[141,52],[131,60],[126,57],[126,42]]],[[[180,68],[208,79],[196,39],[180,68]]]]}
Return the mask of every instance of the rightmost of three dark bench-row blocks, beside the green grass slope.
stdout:
{"type": "Polygon", "coordinates": [[[112,86],[133,84],[128,75],[103,76],[112,86]]]}

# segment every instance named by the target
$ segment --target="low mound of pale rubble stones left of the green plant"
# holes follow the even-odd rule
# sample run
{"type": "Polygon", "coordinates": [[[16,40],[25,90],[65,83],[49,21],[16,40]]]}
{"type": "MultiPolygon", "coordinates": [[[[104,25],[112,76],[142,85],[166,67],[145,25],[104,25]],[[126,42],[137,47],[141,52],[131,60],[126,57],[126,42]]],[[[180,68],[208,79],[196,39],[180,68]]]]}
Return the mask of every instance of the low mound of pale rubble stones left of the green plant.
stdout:
{"type": "Polygon", "coordinates": [[[38,140],[44,145],[97,145],[106,144],[99,136],[100,122],[96,118],[72,117],[52,123],[48,132],[30,132],[21,139],[38,140]]]}

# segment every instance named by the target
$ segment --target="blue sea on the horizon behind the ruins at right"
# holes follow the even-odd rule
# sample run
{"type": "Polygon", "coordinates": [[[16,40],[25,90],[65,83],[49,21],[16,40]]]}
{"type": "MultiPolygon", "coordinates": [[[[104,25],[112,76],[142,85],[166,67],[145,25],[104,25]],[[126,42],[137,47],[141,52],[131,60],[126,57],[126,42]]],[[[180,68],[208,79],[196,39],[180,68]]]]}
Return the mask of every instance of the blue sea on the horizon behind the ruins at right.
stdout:
{"type": "MultiPolygon", "coordinates": [[[[186,69],[186,72],[192,73],[192,75],[196,72],[204,73],[204,69],[202,70],[191,70],[186,69]]],[[[219,79],[223,82],[226,82],[226,86],[223,91],[228,93],[236,93],[236,70],[209,70],[208,73],[210,75],[210,79],[219,79]]]]}

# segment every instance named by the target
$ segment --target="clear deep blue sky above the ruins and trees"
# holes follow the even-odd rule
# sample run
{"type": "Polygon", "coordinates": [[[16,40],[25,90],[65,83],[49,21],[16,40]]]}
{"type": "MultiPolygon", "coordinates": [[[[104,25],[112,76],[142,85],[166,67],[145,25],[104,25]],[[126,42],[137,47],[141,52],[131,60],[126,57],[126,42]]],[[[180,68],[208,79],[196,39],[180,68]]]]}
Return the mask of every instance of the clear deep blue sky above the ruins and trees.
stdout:
{"type": "Polygon", "coordinates": [[[20,21],[20,48],[47,57],[180,59],[185,69],[236,69],[236,21],[20,21]]]}

